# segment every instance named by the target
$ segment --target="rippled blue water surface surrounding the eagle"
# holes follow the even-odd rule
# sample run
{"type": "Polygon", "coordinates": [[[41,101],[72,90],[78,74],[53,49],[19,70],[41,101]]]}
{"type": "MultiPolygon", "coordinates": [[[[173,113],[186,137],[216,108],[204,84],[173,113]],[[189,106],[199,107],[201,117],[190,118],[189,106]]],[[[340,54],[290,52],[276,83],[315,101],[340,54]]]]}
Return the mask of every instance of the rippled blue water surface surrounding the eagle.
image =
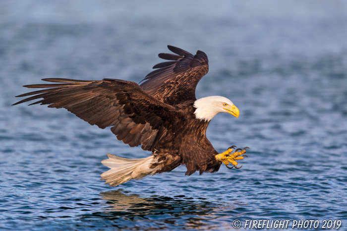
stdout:
{"type": "Polygon", "coordinates": [[[342,0],[0,1],[0,229],[332,219],[347,230],[346,38],[342,0]],[[64,109],[10,106],[42,78],[139,82],[167,45],[207,53],[197,97],[240,109],[207,136],[220,152],[249,146],[241,169],[187,177],[181,166],[113,188],[100,181],[106,153],[150,153],[64,109]]]}

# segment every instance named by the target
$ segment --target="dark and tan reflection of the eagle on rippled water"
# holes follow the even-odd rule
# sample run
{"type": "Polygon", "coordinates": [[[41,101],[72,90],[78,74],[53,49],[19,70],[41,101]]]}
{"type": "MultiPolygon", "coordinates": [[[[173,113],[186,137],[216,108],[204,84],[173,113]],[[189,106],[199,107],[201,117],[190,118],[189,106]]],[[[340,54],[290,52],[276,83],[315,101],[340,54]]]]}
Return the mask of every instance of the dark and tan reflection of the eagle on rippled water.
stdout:
{"type": "MultiPolygon", "coordinates": [[[[209,202],[207,198],[195,199],[184,195],[177,195],[173,198],[157,195],[144,197],[129,194],[128,191],[123,190],[101,192],[100,195],[109,205],[105,208],[104,215],[99,212],[83,215],[83,218],[104,217],[113,220],[118,228],[125,227],[123,227],[124,224],[117,225],[117,221],[126,219],[131,221],[149,220],[157,225],[179,225],[187,229],[217,229],[221,226],[221,222],[215,220],[224,216],[224,213],[232,211],[234,205],[237,205],[237,201],[216,204],[209,202]]],[[[225,225],[230,226],[230,224],[225,225]]]]}

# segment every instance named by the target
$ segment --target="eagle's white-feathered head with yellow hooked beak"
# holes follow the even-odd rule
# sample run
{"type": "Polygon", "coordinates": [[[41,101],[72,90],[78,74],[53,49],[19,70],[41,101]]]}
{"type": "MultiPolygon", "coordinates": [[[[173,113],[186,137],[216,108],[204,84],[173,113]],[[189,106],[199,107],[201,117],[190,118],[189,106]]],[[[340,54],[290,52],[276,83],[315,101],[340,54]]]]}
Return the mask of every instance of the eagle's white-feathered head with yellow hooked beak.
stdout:
{"type": "Polygon", "coordinates": [[[228,112],[236,118],[240,114],[238,108],[223,96],[208,96],[194,102],[195,118],[205,121],[212,120],[220,112],[228,112]]]}

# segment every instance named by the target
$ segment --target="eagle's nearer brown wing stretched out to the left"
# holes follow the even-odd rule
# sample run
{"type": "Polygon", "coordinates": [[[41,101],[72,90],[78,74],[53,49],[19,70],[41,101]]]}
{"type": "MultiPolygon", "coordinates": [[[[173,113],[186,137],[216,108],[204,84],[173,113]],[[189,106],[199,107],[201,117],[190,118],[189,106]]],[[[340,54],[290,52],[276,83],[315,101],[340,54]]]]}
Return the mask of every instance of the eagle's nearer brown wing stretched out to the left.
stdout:
{"type": "MultiPolygon", "coordinates": [[[[161,127],[170,126],[175,108],[144,92],[134,82],[104,79],[84,81],[71,79],[43,79],[58,84],[27,85],[27,88],[46,88],[17,97],[29,96],[13,105],[40,99],[32,104],[65,108],[79,118],[99,128],[113,126],[111,131],[130,146],[142,144],[152,150],[161,127]]],[[[30,104],[30,105],[32,105],[30,104]]],[[[165,128],[164,128],[165,129],[165,128]]]]}

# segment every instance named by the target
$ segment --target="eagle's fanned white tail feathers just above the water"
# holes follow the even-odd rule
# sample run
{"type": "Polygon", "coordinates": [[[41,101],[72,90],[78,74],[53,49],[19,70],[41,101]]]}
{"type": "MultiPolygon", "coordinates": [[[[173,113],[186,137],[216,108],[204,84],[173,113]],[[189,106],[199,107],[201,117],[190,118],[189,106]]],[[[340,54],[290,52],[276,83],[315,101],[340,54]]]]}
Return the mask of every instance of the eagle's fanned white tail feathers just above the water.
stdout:
{"type": "Polygon", "coordinates": [[[109,159],[101,163],[111,169],[101,174],[101,177],[111,186],[120,185],[132,179],[141,179],[156,172],[155,168],[150,168],[153,161],[152,155],[143,159],[126,159],[112,154],[107,156],[109,159]]]}

